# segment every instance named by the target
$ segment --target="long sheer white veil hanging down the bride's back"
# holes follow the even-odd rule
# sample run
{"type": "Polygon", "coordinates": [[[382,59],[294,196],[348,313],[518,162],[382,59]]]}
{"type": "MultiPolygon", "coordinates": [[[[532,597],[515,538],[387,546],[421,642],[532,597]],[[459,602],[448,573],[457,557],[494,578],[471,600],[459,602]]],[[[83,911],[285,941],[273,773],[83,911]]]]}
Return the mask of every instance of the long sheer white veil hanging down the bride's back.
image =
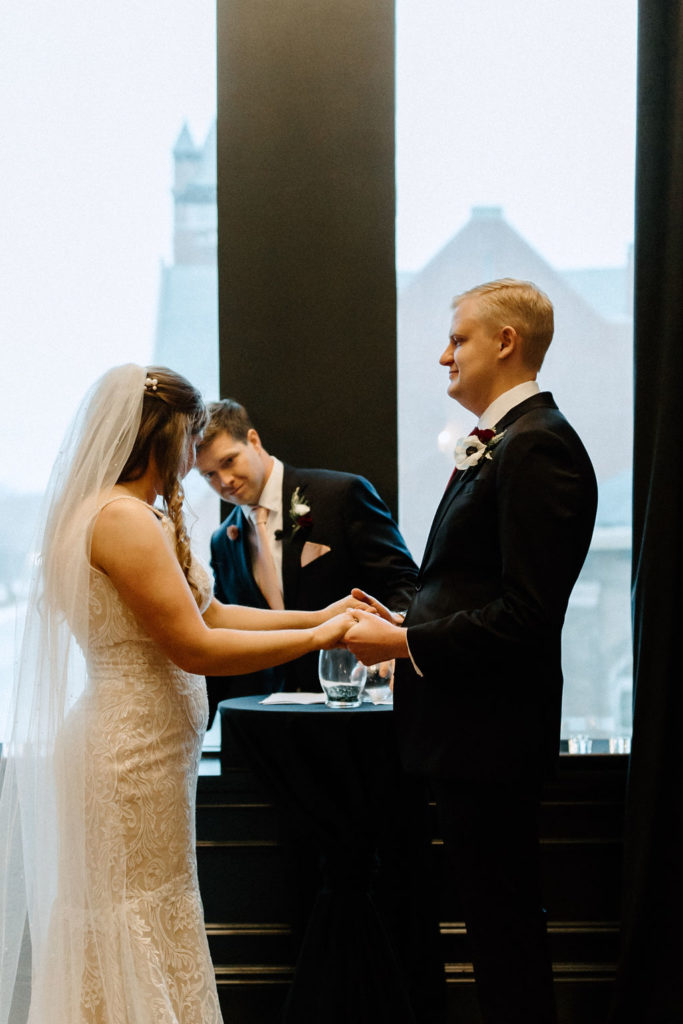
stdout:
{"type": "Polygon", "coordinates": [[[0,737],[0,1024],[80,1019],[83,936],[96,913],[83,887],[87,765],[75,714],[86,686],[90,540],[100,496],[135,440],[144,378],[128,364],[93,385],[43,502],[10,735],[0,737]],[[69,910],[55,933],[57,893],[69,910]]]}

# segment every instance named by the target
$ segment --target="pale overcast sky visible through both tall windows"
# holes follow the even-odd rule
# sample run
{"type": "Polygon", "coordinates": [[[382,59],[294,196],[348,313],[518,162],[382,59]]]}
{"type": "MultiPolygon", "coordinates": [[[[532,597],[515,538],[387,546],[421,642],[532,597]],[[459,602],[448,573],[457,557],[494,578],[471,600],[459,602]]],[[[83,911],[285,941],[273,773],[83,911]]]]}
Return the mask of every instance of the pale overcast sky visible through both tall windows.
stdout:
{"type": "MultiPolygon", "coordinates": [[[[623,264],[635,34],[636,0],[397,0],[398,267],[486,204],[559,268],[623,264]]],[[[41,489],[87,386],[150,357],[214,50],[214,0],[0,3],[0,486],[41,489]]]]}

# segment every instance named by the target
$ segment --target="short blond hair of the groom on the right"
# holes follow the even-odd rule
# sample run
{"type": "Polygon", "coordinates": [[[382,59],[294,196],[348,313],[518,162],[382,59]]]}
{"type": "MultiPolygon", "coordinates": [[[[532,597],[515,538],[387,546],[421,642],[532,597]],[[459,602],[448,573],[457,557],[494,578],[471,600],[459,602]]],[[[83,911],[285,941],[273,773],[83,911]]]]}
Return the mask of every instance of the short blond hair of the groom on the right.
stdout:
{"type": "Polygon", "coordinates": [[[494,329],[508,326],[515,329],[523,342],[524,361],[540,370],[555,330],[553,304],[545,292],[530,281],[501,278],[457,295],[452,308],[469,298],[478,300],[482,317],[494,329]]]}

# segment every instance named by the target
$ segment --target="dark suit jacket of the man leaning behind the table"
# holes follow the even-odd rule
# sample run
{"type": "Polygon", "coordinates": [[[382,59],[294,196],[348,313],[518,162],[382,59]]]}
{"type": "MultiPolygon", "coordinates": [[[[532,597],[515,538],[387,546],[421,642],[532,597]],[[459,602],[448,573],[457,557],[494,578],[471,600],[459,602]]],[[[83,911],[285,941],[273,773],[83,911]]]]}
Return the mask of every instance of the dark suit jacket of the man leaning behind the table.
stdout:
{"type": "MultiPolygon", "coordinates": [[[[323,608],[352,587],[361,587],[393,609],[408,607],[418,567],[388,508],[364,477],[286,465],[283,526],[286,608],[323,608]],[[289,509],[297,487],[310,507],[312,522],[295,531],[289,509]],[[325,545],[330,551],[302,566],[306,542],[325,545]]],[[[211,564],[219,601],[267,607],[252,574],[249,537],[239,506],[211,539],[211,564]]],[[[228,696],[280,689],[317,690],[317,655],[308,654],[249,676],[210,678],[208,685],[212,717],[216,702],[228,696]]]]}

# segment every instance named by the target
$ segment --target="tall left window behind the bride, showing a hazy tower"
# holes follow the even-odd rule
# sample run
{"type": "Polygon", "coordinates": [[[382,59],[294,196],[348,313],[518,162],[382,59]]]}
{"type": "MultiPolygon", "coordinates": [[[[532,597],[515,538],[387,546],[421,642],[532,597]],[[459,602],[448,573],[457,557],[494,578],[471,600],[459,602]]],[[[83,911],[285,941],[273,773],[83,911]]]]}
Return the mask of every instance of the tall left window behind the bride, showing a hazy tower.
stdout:
{"type": "MultiPolygon", "coordinates": [[[[81,396],[129,360],[217,393],[215,6],[4,0],[0,40],[1,741],[40,497],[81,396]]],[[[217,502],[189,487],[202,544],[217,502]]]]}

